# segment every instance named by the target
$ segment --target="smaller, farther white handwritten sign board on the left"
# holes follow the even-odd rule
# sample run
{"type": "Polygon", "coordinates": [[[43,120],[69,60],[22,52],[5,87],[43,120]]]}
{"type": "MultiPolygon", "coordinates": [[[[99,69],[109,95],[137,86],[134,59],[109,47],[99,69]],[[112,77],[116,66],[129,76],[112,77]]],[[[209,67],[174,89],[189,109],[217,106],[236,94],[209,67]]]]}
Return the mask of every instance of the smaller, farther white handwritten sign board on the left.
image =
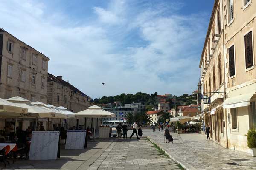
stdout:
{"type": "Polygon", "coordinates": [[[84,149],[86,130],[67,130],[65,149],[84,149]]]}

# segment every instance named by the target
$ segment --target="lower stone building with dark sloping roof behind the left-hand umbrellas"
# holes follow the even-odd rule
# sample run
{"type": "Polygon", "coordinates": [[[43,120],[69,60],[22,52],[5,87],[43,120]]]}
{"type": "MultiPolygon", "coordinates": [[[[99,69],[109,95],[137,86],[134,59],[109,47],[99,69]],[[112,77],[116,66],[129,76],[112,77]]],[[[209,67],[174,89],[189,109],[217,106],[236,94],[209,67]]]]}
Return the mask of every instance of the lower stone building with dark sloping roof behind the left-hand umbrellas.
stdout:
{"type": "MultiPolygon", "coordinates": [[[[62,76],[54,76],[48,73],[47,82],[47,104],[54,106],[63,106],[68,110],[77,113],[91,106],[91,98],[64,81],[62,76]]],[[[53,119],[52,119],[53,120],[53,119]]],[[[84,119],[68,119],[69,126],[84,125],[84,119]]],[[[59,124],[59,119],[53,120],[53,126],[59,124]]],[[[91,119],[87,118],[86,125],[91,124],[91,119]]]]}

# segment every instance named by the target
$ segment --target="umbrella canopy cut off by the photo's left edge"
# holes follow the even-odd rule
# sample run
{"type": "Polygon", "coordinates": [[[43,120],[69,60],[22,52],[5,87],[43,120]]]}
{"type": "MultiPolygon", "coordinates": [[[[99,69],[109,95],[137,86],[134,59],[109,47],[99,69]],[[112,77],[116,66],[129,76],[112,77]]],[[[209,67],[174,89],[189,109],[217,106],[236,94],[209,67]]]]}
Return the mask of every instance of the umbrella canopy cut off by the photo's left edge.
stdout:
{"type": "Polygon", "coordinates": [[[22,117],[27,116],[28,109],[21,108],[12,102],[0,98],[0,117],[22,117]]]}

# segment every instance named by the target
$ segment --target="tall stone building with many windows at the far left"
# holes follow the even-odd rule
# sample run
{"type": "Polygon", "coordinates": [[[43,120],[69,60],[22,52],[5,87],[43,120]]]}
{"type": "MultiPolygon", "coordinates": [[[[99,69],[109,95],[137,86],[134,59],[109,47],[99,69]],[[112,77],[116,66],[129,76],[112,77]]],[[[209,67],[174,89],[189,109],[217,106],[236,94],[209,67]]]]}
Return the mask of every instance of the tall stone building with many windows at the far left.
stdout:
{"type": "MultiPolygon", "coordinates": [[[[0,98],[20,96],[32,102],[47,102],[49,58],[21,40],[0,29],[0,98]]],[[[4,126],[4,120],[0,120],[4,126]]],[[[6,119],[14,123],[14,119],[6,119]]],[[[34,119],[17,120],[23,130],[34,126],[34,119]]]]}

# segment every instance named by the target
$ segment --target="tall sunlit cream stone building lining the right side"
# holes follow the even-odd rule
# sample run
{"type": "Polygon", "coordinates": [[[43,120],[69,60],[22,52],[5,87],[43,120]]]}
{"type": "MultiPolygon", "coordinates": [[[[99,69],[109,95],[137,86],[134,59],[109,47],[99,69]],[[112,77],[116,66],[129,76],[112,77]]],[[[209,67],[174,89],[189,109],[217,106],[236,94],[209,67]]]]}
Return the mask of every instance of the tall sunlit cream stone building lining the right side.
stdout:
{"type": "Polygon", "coordinates": [[[215,0],[199,65],[212,139],[245,152],[245,134],[256,123],[255,20],[253,0],[215,0]]]}

